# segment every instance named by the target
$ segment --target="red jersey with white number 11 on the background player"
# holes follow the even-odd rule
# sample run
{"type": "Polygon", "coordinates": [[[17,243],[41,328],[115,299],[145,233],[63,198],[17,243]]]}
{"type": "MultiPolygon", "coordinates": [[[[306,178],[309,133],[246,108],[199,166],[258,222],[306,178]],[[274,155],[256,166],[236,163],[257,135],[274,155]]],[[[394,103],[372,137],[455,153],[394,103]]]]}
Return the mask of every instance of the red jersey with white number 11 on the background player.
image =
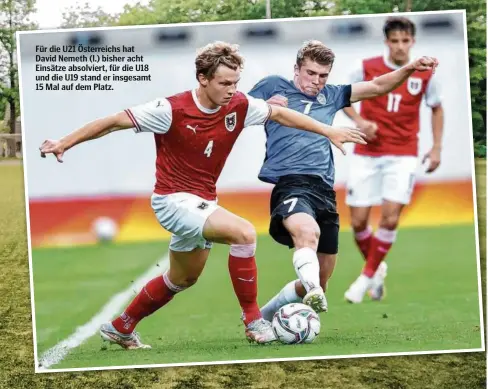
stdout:
{"type": "MultiPolygon", "coordinates": [[[[380,56],[362,62],[362,81],[370,81],[398,68],[380,56]]],[[[432,71],[414,72],[402,85],[387,95],[361,101],[360,114],[378,125],[377,138],[367,145],[355,145],[361,155],[418,155],[420,107],[436,106],[440,98],[431,86],[432,71]]],[[[359,81],[359,80],[358,80],[359,81]]]]}

